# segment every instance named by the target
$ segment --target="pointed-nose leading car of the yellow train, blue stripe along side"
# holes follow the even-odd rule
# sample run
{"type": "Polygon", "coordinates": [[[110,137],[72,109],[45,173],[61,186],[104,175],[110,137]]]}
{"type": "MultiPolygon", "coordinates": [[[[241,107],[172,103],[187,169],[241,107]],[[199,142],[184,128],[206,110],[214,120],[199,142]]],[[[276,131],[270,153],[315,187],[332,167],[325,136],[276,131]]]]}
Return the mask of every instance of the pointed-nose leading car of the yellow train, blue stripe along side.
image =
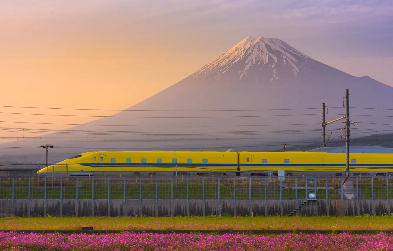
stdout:
{"type": "Polygon", "coordinates": [[[236,169],[236,152],[101,151],[76,155],[41,169],[39,175],[226,176],[235,175],[236,169]]]}

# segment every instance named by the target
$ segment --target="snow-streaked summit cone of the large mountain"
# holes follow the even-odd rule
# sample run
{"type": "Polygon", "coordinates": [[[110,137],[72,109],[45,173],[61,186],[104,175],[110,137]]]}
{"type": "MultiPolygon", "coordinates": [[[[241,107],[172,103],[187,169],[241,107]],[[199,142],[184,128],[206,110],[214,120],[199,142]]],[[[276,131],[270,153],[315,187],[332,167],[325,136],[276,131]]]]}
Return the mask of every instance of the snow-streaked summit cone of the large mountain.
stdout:
{"type": "Polygon", "coordinates": [[[294,78],[298,78],[298,74],[307,75],[309,69],[305,64],[310,61],[315,60],[281,39],[247,37],[187,79],[239,78],[258,82],[271,77],[270,81],[278,81],[279,74],[286,76],[288,70],[294,78]]]}

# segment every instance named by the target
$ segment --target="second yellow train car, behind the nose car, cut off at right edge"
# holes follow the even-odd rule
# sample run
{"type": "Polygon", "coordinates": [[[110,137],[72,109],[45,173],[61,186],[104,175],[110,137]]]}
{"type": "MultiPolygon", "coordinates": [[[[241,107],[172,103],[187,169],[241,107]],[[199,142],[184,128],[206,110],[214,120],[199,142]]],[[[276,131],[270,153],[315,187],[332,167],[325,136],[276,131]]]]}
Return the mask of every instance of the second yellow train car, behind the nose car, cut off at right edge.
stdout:
{"type": "MultiPolygon", "coordinates": [[[[392,153],[392,148],[351,146],[350,175],[393,174],[392,153]]],[[[345,147],[317,148],[305,152],[239,152],[239,168],[248,176],[345,176],[346,161],[345,147]]]]}

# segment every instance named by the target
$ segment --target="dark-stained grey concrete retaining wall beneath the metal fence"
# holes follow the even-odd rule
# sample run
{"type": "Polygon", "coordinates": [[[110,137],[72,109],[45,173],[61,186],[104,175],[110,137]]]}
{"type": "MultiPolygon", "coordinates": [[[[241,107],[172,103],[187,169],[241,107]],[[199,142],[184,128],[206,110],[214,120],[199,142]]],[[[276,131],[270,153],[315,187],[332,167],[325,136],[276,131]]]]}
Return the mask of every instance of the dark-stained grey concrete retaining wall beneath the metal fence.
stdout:
{"type": "MultiPolygon", "coordinates": [[[[0,216],[275,216],[290,214],[304,200],[0,200],[0,216]]],[[[308,201],[297,215],[305,216],[351,216],[351,215],[390,215],[393,213],[393,201],[382,199],[344,200],[325,199],[308,201]]]]}

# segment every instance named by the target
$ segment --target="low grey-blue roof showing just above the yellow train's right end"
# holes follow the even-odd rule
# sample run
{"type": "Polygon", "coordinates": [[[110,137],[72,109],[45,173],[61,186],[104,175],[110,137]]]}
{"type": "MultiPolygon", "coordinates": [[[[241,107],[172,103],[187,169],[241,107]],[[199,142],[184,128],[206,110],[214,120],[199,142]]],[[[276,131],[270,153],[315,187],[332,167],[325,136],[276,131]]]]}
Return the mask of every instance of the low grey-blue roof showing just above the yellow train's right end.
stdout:
{"type": "MultiPolygon", "coordinates": [[[[345,146],[342,147],[321,147],[306,152],[313,153],[346,153],[345,146]]],[[[349,146],[349,153],[393,153],[393,148],[382,146],[349,146]]]]}

